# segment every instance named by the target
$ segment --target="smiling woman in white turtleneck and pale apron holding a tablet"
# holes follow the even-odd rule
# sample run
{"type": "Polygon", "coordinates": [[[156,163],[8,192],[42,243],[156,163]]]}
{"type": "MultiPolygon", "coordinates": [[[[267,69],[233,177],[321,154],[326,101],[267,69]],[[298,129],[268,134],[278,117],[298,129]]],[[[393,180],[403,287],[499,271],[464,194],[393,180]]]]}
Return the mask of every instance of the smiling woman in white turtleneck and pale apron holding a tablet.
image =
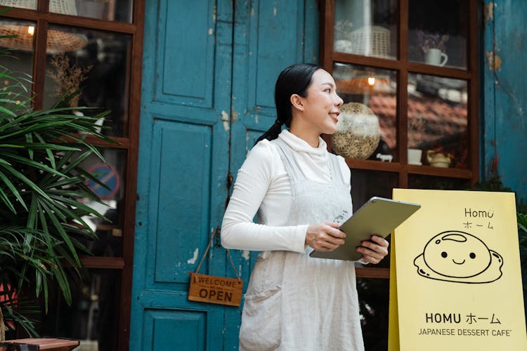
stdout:
{"type": "MultiPolygon", "coordinates": [[[[309,257],[344,244],[339,223],[352,213],[349,168],[320,138],[337,131],[342,103],[324,69],[287,67],[275,86],[278,119],[238,171],[222,244],[262,251],[245,294],[240,350],[364,348],[353,262],[309,257]],[[280,132],[282,124],[289,130],[280,132]]],[[[363,263],[388,253],[382,237],[363,246],[363,263]]]]}

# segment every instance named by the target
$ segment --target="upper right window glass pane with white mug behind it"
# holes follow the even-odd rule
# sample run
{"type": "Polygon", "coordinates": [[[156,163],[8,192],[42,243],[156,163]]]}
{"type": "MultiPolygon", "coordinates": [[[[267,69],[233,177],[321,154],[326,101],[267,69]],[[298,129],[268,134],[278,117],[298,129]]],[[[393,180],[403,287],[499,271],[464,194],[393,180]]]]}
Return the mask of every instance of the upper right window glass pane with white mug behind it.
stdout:
{"type": "Polygon", "coordinates": [[[465,0],[409,0],[409,60],[467,68],[468,3],[465,0]]]}

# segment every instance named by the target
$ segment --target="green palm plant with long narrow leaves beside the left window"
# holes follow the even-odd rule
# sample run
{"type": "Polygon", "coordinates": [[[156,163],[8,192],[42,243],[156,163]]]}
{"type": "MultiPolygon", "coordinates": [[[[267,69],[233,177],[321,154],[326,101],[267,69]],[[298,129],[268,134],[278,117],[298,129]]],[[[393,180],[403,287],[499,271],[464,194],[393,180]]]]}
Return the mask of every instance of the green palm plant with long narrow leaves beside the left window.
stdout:
{"type": "Polygon", "coordinates": [[[82,273],[79,253],[88,253],[83,243],[96,239],[84,218],[103,218],[79,202],[100,201],[86,186],[87,180],[99,182],[82,162],[92,154],[103,157],[86,135],[112,140],[96,124],[109,112],[77,116],[75,111],[89,109],[68,107],[78,91],[50,109],[33,110],[29,80],[0,66],[0,81],[8,81],[0,90],[0,312],[8,329],[18,325],[36,336],[28,317],[38,312],[34,300],[43,297],[47,311],[53,283],[71,303],[65,266],[82,273]]]}

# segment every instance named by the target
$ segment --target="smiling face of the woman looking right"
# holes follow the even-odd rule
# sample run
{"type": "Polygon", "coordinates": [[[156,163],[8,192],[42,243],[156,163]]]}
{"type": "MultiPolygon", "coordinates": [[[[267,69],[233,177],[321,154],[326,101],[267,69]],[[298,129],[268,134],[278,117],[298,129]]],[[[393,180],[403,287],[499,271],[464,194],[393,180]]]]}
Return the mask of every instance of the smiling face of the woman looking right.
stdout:
{"type": "Polygon", "coordinates": [[[335,91],[335,81],[324,69],[313,73],[306,98],[301,98],[304,106],[303,124],[313,128],[319,135],[337,131],[339,110],[344,101],[335,91]]]}

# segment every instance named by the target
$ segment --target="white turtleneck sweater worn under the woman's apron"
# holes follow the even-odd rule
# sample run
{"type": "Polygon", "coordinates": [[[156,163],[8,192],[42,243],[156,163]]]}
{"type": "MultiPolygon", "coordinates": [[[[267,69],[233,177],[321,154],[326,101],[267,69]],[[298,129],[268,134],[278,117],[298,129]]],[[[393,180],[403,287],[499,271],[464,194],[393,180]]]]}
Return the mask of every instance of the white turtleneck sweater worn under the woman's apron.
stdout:
{"type": "MultiPolygon", "coordinates": [[[[330,182],[327,145],[319,138],[318,147],[311,147],[305,140],[287,130],[278,138],[292,147],[298,164],[306,178],[330,182]]],[[[340,169],[345,180],[350,171],[340,157],[340,169]]],[[[348,191],[351,185],[348,183],[348,191]]],[[[238,171],[233,195],[221,225],[221,243],[228,249],[252,251],[305,251],[308,225],[287,225],[291,211],[291,185],[276,146],[261,140],[247,155],[238,171]],[[258,223],[253,223],[258,213],[258,223]]]]}

